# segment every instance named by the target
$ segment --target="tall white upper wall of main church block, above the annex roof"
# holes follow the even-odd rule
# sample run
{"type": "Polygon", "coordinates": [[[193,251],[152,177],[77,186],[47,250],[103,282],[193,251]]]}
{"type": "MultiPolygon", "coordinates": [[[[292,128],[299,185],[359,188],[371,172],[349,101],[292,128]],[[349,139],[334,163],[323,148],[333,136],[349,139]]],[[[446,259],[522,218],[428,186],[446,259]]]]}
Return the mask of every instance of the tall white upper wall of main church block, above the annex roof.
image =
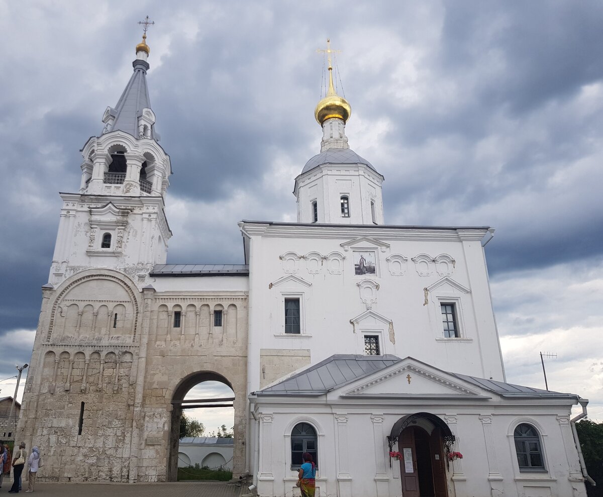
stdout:
{"type": "MultiPolygon", "coordinates": [[[[309,350],[412,356],[450,372],[504,380],[481,239],[487,229],[242,226],[250,236],[250,351],[309,350]],[[355,274],[356,252],[376,274],[355,274]],[[301,334],[284,332],[284,299],[301,299],[301,334]],[[441,302],[456,304],[460,338],[444,338],[441,302]]],[[[248,391],[262,381],[250,352],[248,391]]],[[[299,364],[303,366],[303,364],[299,364]]]]}

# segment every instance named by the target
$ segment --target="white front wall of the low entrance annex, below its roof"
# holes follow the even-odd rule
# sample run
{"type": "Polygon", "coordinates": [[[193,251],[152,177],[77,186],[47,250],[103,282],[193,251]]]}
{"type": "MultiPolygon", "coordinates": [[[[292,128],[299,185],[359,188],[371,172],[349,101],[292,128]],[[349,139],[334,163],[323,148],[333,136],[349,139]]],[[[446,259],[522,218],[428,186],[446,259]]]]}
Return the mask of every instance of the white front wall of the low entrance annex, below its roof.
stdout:
{"type": "MultiPolygon", "coordinates": [[[[390,466],[385,437],[400,417],[425,410],[429,404],[429,412],[452,427],[456,434],[453,450],[464,456],[447,466],[450,497],[586,496],[573,440],[564,436],[564,430],[569,428],[567,407],[524,404],[479,408],[420,399],[390,404],[371,399],[352,407],[350,401],[345,405],[320,405],[314,401],[314,405],[271,402],[272,405],[258,408],[263,453],[257,463],[258,495],[299,495],[295,489],[296,471],[291,469],[290,438],[291,429],[298,422],[310,423],[317,430],[317,495],[402,495],[400,464],[392,460],[390,466]],[[564,410],[564,416],[558,416],[564,410]],[[513,440],[514,428],[520,422],[537,427],[545,472],[520,472],[513,440]],[[266,448],[262,441],[271,446],[266,448]]],[[[396,445],[393,449],[398,450],[396,445]]]]}

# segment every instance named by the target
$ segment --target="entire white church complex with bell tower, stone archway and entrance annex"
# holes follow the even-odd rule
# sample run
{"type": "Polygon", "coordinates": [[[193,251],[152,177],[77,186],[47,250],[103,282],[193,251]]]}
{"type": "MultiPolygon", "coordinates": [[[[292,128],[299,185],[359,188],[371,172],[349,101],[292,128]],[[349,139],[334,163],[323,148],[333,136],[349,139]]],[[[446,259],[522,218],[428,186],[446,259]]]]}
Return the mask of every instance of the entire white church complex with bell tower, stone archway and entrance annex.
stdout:
{"type": "Polygon", "coordinates": [[[494,230],[385,224],[330,60],[297,223],[241,221],[244,264],[167,264],[149,54],[143,39],[61,194],[18,430],[42,478],[174,480],[184,396],[211,379],[235,393],[233,472],[260,496],[300,495],[303,452],[320,497],[586,496],[571,411],[587,400],[506,382],[494,230]]]}

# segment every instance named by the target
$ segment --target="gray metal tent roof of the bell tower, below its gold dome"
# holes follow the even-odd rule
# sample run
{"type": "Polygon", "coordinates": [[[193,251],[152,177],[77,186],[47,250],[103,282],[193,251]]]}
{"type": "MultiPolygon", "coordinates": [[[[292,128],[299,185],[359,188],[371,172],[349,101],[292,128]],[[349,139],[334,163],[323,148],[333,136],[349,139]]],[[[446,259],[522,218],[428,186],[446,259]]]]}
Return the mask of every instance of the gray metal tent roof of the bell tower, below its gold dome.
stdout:
{"type": "MultiPolygon", "coordinates": [[[[134,74],[119,97],[115,109],[115,122],[111,131],[121,130],[138,138],[138,118],[142,109],[151,109],[149,90],[147,87],[147,69],[149,65],[144,60],[134,60],[134,74]]],[[[155,139],[155,125],[151,126],[151,138],[155,139]]],[[[159,137],[157,137],[159,138],[159,137]]]]}

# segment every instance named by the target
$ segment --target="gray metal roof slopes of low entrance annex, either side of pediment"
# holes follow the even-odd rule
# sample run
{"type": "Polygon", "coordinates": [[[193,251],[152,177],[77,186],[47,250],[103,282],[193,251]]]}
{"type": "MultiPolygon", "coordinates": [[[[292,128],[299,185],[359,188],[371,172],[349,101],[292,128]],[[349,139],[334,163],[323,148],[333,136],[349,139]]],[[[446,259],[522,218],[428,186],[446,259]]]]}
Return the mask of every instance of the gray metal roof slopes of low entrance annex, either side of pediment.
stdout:
{"type": "MultiPolygon", "coordinates": [[[[286,378],[283,381],[257,391],[257,395],[321,395],[335,390],[349,382],[371,375],[374,372],[393,366],[403,359],[395,355],[332,355],[322,362],[286,378]]],[[[416,361],[416,359],[413,359],[416,361]]],[[[417,361],[421,362],[421,361],[417,361]]],[[[425,364],[425,363],[423,363],[425,364]]],[[[502,397],[568,397],[576,398],[572,393],[540,390],[521,387],[510,383],[444,372],[467,381],[476,387],[484,388],[502,397]]]]}

